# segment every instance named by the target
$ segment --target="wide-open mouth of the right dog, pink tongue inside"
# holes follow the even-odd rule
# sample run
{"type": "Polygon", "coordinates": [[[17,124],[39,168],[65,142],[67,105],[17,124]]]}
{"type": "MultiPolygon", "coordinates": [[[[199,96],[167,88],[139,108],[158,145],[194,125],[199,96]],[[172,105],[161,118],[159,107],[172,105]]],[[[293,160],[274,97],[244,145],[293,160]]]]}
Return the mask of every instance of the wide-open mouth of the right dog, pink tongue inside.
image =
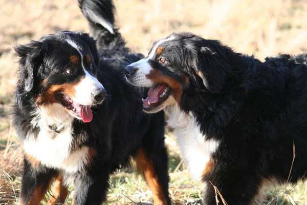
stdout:
{"type": "Polygon", "coordinates": [[[169,94],[170,87],[168,87],[167,85],[163,84],[152,86],[147,93],[147,98],[142,99],[143,109],[148,111],[161,105],[168,98],[169,94]]]}

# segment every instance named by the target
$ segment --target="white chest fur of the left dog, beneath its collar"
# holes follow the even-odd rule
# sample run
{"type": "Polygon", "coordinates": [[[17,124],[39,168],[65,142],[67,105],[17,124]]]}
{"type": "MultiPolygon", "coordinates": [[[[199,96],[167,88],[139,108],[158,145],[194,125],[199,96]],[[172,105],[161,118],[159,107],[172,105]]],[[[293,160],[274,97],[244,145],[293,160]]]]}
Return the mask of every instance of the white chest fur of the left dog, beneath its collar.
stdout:
{"type": "Polygon", "coordinates": [[[27,154],[49,168],[62,169],[70,173],[83,169],[87,162],[89,147],[82,147],[71,152],[73,141],[72,119],[63,108],[58,108],[57,105],[53,104],[52,107],[41,108],[39,118],[36,119],[37,126],[40,128],[38,135],[36,137],[29,136],[24,141],[24,149],[27,154]],[[57,110],[52,112],[53,109],[57,110]],[[59,110],[65,113],[60,113],[59,110]],[[45,113],[49,113],[49,115],[45,115],[45,113]],[[56,115],[57,118],[52,118],[54,117],[52,114],[56,115]],[[59,134],[55,134],[49,129],[47,122],[51,119],[57,121],[58,127],[64,128],[59,134]]]}

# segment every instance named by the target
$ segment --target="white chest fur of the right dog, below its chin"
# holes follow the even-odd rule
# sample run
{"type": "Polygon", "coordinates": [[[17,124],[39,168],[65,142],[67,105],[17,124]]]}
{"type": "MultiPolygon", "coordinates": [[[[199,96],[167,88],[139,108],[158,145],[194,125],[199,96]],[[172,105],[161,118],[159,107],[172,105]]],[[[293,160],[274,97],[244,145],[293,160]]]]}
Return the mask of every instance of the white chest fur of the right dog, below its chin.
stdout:
{"type": "Polygon", "coordinates": [[[174,129],[185,165],[195,179],[201,180],[211,154],[220,141],[205,139],[193,115],[180,111],[178,105],[165,109],[169,115],[168,125],[174,129]]]}

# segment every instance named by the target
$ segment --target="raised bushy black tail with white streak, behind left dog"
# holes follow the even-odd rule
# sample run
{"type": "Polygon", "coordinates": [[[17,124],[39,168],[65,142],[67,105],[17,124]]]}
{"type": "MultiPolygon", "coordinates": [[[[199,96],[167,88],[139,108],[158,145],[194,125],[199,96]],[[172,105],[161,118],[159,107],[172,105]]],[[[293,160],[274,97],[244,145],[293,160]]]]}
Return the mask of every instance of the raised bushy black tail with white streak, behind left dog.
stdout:
{"type": "Polygon", "coordinates": [[[83,15],[89,22],[91,34],[97,41],[99,55],[111,57],[129,53],[129,49],[125,47],[125,40],[118,29],[114,28],[115,7],[113,1],[78,0],[78,2],[83,15]]]}

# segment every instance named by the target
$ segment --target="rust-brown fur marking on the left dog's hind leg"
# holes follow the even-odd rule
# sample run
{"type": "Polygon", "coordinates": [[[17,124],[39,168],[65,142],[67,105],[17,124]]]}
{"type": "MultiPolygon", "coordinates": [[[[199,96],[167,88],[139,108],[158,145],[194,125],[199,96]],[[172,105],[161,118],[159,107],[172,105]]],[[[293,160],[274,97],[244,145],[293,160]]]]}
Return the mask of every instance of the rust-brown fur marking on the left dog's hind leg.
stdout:
{"type": "Polygon", "coordinates": [[[153,169],[152,160],[148,159],[142,148],[139,149],[135,161],[137,163],[137,170],[144,175],[147,185],[152,191],[153,202],[155,205],[167,204],[162,186],[158,181],[155,170],[153,169]]]}

